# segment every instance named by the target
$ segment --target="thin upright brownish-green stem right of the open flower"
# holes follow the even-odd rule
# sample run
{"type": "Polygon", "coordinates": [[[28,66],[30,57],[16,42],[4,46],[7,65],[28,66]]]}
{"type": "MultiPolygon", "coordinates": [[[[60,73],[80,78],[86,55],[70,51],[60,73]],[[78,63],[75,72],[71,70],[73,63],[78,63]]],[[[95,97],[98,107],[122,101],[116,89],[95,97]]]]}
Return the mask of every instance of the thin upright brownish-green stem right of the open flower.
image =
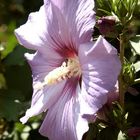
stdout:
{"type": "Polygon", "coordinates": [[[124,82],[123,82],[123,64],[124,64],[124,36],[120,34],[120,61],[122,69],[119,75],[119,100],[122,108],[124,107],[124,82]]]}

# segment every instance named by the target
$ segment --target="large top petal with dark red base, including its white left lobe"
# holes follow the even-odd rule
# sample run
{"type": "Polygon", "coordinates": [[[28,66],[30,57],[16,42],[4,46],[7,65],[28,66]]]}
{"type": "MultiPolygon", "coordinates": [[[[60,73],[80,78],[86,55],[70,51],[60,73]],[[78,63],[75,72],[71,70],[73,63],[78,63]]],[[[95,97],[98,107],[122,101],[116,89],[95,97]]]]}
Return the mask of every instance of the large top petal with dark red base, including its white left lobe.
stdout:
{"type": "Polygon", "coordinates": [[[91,40],[95,14],[94,1],[62,1],[60,9],[55,1],[47,0],[39,12],[29,15],[28,21],[15,30],[21,45],[44,53],[53,50],[67,57],[78,52],[81,43],[91,40]]]}

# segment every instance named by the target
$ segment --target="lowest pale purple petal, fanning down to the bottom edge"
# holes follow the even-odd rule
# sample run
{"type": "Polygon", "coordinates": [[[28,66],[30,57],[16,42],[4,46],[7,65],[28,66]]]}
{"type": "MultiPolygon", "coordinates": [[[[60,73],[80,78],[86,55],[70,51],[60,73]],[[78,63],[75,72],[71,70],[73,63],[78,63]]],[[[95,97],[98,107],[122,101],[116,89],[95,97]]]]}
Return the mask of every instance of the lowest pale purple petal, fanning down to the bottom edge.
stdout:
{"type": "Polygon", "coordinates": [[[80,116],[77,79],[68,80],[59,100],[49,108],[40,133],[50,140],[81,140],[88,123],[80,116]]]}

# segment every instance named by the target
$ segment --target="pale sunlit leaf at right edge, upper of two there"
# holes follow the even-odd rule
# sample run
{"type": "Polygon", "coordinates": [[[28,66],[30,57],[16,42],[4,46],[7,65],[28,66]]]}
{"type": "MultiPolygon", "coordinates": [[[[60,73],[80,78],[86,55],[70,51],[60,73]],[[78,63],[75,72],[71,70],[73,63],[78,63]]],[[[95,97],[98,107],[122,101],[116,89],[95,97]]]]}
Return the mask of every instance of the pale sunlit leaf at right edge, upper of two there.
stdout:
{"type": "Polygon", "coordinates": [[[134,49],[134,51],[136,52],[136,54],[140,55],[140,35],[133,37],[130,40],[130,44],[134,49]]]}

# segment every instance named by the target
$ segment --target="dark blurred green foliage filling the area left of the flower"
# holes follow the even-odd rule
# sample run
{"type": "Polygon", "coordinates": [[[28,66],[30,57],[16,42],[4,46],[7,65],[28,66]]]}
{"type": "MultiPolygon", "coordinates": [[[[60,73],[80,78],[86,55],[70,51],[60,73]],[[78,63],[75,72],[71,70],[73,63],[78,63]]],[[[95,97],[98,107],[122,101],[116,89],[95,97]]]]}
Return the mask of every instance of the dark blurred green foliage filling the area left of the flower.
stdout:
{"type": "Polygon", "coordinates": [[[32,74],[24,58],[31,50],[20,46],[14,35],[14,29],[42,4],[42,0],[0,0],[0,139],[47,139],[38,133],[40,116],[26,125],[19,122],[32,96],[32,74]]]}

